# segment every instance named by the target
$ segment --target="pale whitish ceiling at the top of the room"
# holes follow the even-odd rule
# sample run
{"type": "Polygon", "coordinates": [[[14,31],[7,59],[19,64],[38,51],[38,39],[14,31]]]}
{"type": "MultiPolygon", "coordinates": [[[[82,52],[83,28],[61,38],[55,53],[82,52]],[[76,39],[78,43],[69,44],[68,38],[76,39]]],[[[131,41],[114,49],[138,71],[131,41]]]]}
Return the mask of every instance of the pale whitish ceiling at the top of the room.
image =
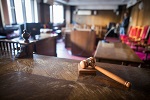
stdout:
{"type": "Polygon", "coordinates": [[[76,6],[78,9],[116,10],[119,5],[133,5],[138,0],[54,0],[55,2],[76,6]]]}

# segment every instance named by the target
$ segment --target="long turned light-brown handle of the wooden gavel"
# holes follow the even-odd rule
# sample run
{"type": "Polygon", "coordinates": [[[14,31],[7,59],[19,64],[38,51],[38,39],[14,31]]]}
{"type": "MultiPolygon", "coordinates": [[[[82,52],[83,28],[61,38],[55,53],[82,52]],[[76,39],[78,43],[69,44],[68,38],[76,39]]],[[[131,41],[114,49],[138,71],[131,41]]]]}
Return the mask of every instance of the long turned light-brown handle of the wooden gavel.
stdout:
{"type": "Polygon", "coordinates": [[[111,72],[109,72],[109,71],[107,71],[107,70],[105,70],[105,69],[103,69],[101,67],[95,66],[95,69],[98,70],[98,71],[100,71],[104,75],[112,78],[113,80],[115,80],[115,81],[117,81],[117,82],[125,85],[126,87],[130,87],[131,86],[130,82],[125,81],[124,79],[120,78],[119,76],[117,76],[117,75],[115,75],[115,74],[113,74],[113,73],[111,73],[111,72]]]}

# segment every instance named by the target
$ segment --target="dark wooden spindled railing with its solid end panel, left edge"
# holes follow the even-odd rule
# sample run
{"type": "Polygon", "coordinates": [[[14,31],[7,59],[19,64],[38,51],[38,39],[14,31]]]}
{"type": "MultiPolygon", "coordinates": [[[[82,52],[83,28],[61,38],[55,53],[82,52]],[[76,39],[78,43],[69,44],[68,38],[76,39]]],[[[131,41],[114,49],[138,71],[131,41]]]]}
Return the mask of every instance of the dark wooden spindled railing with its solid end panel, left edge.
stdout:
{"type": "Polygon", "coordinates": [[[0,56],[10,58],[33,57],[33,43],[19,43],[18,41],[1,39],[0,56]]]}

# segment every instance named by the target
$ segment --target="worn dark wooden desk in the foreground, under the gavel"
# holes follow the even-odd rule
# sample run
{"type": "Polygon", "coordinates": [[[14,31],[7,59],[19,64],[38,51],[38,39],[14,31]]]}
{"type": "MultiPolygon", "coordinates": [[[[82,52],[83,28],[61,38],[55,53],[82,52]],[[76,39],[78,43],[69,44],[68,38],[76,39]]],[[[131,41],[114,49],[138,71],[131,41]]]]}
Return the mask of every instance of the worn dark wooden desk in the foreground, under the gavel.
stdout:
{"type": "Polygon", "coordinates": [[[33,59],[0,57],[0,98],[44,100],[150,100],[150,70],[96,63],[128,80],[131,89],[97,72],[78,76],[80,61],[33,55],[33,59]]]}

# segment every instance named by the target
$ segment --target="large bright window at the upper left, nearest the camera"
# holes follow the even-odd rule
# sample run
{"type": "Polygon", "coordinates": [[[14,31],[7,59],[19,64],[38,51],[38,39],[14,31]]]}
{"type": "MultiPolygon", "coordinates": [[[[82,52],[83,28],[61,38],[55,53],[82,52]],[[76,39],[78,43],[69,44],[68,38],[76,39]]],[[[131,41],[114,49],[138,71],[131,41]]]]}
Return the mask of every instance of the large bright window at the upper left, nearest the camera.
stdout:
{"type": "Polygon", "coordinates": [[[37,0],[7,0],[11,24],[38,22],[37,0]]]}

